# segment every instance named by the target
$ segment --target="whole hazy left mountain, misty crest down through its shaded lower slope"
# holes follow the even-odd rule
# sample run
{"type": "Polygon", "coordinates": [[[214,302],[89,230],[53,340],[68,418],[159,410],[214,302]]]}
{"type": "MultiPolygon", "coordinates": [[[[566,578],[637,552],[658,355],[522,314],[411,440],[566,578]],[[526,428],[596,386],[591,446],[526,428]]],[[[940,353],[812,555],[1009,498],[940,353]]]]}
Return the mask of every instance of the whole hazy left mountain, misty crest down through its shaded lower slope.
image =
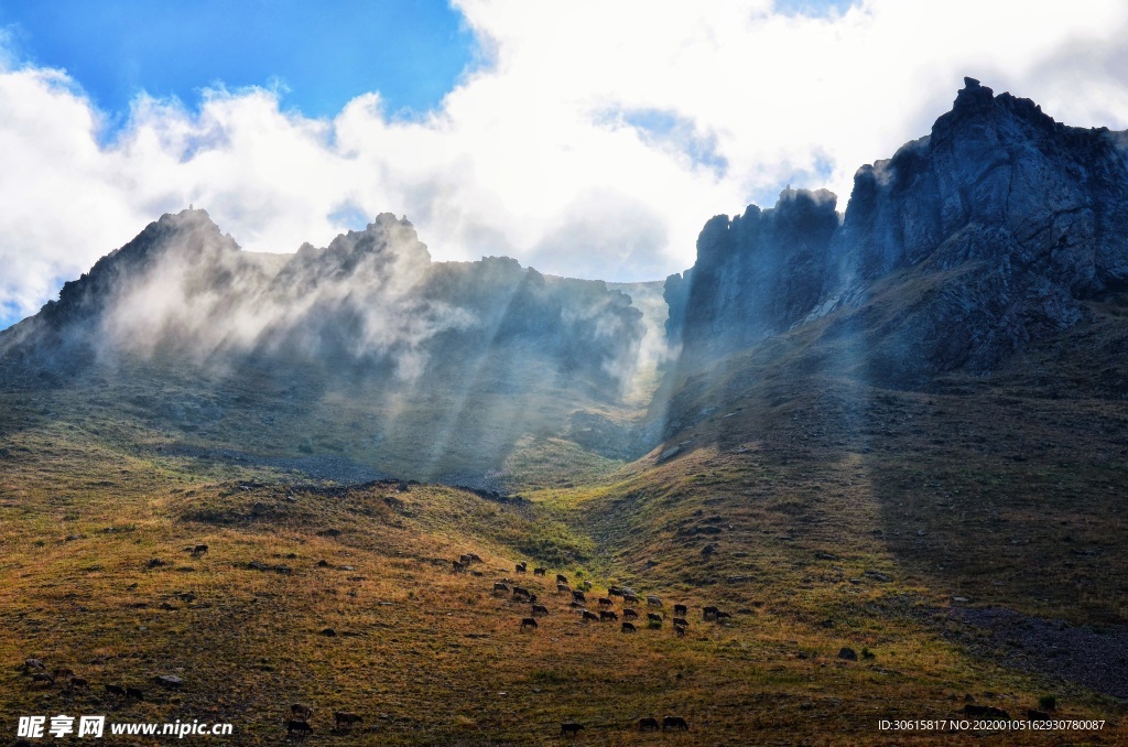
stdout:
{"type": "Polygon", "coordinates": [[[522,439],[615,410],[644,334],[602,281],[506,257],[432,262],[389,213],[327,247],[264,255],[186,210],[0,333],[0,381],[115,392],[168,448],[484,485],[522,439]]]}

